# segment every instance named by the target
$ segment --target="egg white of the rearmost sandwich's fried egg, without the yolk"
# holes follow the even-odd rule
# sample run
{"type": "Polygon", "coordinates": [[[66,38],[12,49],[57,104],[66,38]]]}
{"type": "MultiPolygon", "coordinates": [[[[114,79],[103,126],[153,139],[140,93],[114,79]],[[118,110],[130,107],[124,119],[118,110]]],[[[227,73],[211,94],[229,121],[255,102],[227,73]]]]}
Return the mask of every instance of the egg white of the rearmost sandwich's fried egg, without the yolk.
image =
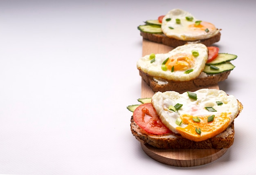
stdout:
{"type": "Polygon", "coordinates": [[[219,32],[219,29],[216,29],[214,25],[213,28],[209,29],[208,32],[198,30],[194,31],[193,29],[189,28],[189,25],[194,24],[195,21],[199,21],[199,19],[195,18],[191,13],[181,9],[173,9],[169,11],[162,20],[162,32],[170,38],[185,41],[211,38],[219,32]],[[186,20],[187,16],[193,17],[193,20],[186,20]],[[166,21],[168,18],[171,20],[166,21]],[[176,19],[180,19],[180,24],[176,23],[176,19]],[[173,29],[170,29],[169,27],[172,27],[173,29]]]}

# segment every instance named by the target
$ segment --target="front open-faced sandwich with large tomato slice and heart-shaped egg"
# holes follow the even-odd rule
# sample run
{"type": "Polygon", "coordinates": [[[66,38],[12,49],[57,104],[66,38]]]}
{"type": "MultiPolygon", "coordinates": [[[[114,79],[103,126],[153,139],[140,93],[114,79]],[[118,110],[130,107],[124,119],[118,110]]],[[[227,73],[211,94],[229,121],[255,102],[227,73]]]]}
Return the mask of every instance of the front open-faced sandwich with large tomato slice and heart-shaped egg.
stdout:
{"type": "Polygon", "coordinates": [[[157,92],[138,101],[127,107],[133,112],[132,134],[159,149],[229,148],[234,119],[243,109],[233,95],[217,89],[157,92]]]}

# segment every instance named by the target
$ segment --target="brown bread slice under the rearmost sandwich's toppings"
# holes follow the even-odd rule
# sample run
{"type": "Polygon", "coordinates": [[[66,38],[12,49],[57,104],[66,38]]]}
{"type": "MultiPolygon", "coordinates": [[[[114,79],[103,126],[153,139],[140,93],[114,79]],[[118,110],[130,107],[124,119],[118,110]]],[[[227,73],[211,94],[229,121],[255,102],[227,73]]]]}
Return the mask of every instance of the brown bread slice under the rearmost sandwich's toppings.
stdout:
{"type": "Polygon", "coordinates": [[[143,31],[140,32],[140,35],[142,36],[142,38],[152,42],[157,42],[170,47],[178,47],[188,43],[202,43],[206,46],[211,46],[213,43],[220,41],[221,33],[219,32],[211,38],[207,38],[204,40],[193,40],[193,41],[177,40],[175,38],[169,38],[164,34],[146,33],[143,31]]]}

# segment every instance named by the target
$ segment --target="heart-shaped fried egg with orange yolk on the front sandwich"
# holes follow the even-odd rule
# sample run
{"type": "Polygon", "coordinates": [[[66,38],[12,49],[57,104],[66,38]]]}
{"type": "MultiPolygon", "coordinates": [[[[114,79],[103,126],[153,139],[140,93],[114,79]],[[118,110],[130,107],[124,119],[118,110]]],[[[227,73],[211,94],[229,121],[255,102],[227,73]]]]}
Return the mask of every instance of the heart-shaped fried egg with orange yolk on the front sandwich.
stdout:
{"type": "Polygon", "coordinates": [[[236,98],[217,89],[157,92],[152,104],[164,125],[196,142],[225,131],[239,113],[236,98]]]}

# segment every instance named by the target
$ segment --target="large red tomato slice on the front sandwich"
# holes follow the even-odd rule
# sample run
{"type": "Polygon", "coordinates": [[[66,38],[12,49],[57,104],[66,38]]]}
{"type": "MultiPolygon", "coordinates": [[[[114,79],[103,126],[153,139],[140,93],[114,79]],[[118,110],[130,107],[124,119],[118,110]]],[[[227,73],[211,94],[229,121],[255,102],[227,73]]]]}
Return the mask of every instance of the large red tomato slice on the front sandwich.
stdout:
{"type": "Polygon", "coordinates": [[[160,120],[152,103],[139,105],[133,112],[133,120],[148,133],[156,135],[171,133],[160,120]]]}

